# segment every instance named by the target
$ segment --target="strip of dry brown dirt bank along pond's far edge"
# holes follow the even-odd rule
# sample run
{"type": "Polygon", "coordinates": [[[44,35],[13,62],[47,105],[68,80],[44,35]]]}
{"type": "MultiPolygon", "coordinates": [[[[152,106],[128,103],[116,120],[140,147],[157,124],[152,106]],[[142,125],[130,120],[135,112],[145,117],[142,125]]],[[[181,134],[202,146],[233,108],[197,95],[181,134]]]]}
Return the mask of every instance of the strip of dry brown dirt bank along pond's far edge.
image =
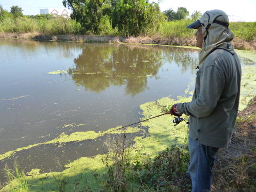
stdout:
{"type": "MultiPolygon", "coordinates": [[[[135,44],[160,44],[175,46],[194,46],[196,38],[165,38],[162,36],[139,36],[139,37],[117,37],[117,36],[88,36],[88,35],[43,35],[37,33],[0,33],[0,38],[18,38],[34,40],[58,40],[58,41],[77,41],[77,42],[107,42],[107,43],[135,43],[135,44]]],[[[234,38],[232,41],[236,49],[256,50],[256,41],[246,42],[234,38]]]]}

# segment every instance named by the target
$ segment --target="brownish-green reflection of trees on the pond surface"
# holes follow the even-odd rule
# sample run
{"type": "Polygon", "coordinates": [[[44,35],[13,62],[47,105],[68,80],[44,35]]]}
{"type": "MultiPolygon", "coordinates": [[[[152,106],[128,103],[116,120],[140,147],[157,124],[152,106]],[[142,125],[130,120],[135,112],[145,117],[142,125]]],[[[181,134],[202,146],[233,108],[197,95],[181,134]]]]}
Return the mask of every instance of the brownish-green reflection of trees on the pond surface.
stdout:
{"type": "Polygon", "coordinates": [[[68,74],[78,86],[91,92],[125,85],[126,94],[135,96],[147,88],[148,77],[159,78],[158,71],[166,62],[174,62],[186,72],[194,69],[197,58],[198,51],[192,49],[98,44],[83,48],[68,74]]]}

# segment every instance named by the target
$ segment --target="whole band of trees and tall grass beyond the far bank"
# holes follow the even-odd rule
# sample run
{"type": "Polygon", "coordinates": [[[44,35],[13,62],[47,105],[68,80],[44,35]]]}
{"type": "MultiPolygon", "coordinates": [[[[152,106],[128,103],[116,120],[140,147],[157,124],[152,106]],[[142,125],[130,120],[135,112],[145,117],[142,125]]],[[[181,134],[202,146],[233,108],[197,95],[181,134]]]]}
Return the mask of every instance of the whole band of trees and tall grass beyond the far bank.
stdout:
{"type": "MultiPolygon", "coordinates": [[[[189,17],[184,7],[177,12],[172,9],[160,12],[158,4],[146,0],[113,0],[109,4],[102,3],[104,0],[86,1],[86,5],[79,6],[75,6],[74,0],[63,1],[73,11],[71,18],[51,14],[24,16],[18,6],[12,6],[10,12],[0,6],[0,32],[192,38],[195,30],[186,26],[202,15],[194,11],[189,17]]],[[[231,22],[230,28],[240,40],[256,40],[256,22],[231,22]]]]}

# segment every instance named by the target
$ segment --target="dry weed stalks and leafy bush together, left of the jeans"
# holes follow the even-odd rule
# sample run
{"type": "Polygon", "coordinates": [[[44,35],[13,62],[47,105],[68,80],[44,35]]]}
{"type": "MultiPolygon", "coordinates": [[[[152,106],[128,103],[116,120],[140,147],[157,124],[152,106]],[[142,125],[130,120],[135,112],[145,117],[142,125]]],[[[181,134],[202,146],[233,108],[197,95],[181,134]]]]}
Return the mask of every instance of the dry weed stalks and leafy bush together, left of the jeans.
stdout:
{"type": "Polygon", "coordinates": [[[161,151],[152,160],[143,150],[132,154],[126,136],[106,142],[109,153],[102,159],[106,168],[105,180],[101,180],[108,191],[189,191],[190,179],[186,179],[189,153],[171,146],[161,151]]]}

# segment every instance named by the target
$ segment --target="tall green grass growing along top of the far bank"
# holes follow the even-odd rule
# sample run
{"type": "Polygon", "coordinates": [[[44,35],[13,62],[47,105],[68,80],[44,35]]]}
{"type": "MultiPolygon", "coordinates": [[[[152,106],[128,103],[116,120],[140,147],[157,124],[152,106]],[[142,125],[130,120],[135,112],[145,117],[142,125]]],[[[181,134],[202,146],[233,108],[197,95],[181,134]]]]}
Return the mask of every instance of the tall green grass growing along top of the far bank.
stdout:
{"type": "MultiPolygon", "coordinates": [[[[174,20],[172,22],[162,22],[156,34],[163,38],[192,38],[195,30],[186,28],[192,20],[174,20]]],[[[109,17],[102,18],[98,34],[93,31],[85,31],[80,23],[75,20],[56,17],[52,19],[36,19],[36,18],[4,18],[0,20],[0,32],[12,33],[33,33],[52,34],[52,35],[101,35],[113,36],[118,34],[116,29],[112,29],[109,17]]],[[[235,37],[240,40],[252,41],[256,40],[256,22],[232,22],[230,29],[234,32],[235,37]]],[[[143,34],[141,34],[143,35],[143,34]]]]}

